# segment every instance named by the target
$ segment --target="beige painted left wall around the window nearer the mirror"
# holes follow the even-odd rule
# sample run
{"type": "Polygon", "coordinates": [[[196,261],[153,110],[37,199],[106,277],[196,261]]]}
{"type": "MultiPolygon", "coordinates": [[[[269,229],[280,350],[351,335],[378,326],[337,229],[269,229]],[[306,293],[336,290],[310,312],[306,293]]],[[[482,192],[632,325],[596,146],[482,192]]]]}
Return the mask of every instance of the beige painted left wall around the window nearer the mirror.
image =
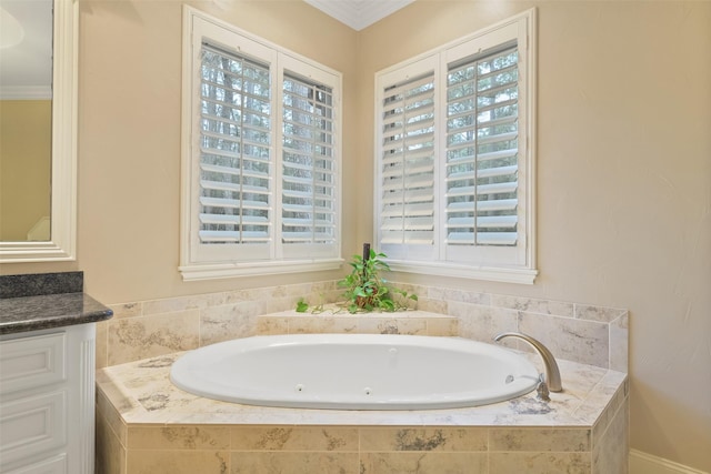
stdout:
{"type": "MultiPolygon", "coordinates": [[[[190,4],[341,71],[344,108],[352,107],[353,30],[303,2],[190,4]]],[[[178,1],[80,3],[79,269],[87,291],[107,303],[274,284],[273,276],[183,283],[178,272],[181,31],[178,1]]],[[[350,115],[343,128],[348,174],[350,115]]],[[[344,233],[352,234],[349,222],[344,233]]],[[[352,238],[344,245],[353,248],[352,238]]]]}

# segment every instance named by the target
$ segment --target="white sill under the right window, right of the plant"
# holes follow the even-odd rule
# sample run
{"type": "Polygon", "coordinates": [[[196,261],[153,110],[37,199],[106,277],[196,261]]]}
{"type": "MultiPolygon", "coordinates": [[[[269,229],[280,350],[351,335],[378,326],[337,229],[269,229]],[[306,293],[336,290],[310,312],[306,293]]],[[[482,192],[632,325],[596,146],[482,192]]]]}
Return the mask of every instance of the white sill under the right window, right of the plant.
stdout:
{"type": "Polygon", "coordinates": [[[498,266],[470,266],[447,263],[405,262],[387,259],[393,272],[419,273],[422,275],[451,276],[458,279],[490,282],[533,284],[538,270],[498,266]]]}

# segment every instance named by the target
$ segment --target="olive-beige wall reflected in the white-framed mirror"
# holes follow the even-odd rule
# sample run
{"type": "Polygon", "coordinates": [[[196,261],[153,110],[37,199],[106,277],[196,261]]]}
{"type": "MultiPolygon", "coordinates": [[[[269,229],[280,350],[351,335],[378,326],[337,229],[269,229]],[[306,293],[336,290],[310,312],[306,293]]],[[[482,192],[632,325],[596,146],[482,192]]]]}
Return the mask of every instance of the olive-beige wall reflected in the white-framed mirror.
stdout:
{"type": "Polygon", "coordinates": [[[0,102],[0,241],[23,241],[50,212],[52,102],[0,102]]]}

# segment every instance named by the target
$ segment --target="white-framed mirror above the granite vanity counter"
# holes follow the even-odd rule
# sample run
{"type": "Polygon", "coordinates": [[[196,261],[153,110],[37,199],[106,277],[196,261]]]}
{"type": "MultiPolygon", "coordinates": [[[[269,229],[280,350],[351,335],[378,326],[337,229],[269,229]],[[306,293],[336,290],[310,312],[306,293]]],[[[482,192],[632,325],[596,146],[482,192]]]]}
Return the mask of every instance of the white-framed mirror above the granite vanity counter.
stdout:
{"type": "Polygon", "coordinates": [[[9,88],[9,95],[6,87],[13,85],[14,79],[9,74],[14,71],[7,68],[6,74],[2,63],[0,262],[74,260],[78,2],[0,0],[0,43],[3,47],[0,49],[0,61],[20,56],[22,62],[30,63],[27,50],[11,52],[21,47],[28,47],[32,54],[44,59],[39,61],[44,67],[37,65],[31,71],[31,79],[20,81],[23,82],[21,88],[14,91],[14,88],[9,88]],[[29,17],[33,20],[46,19],[46,24],[39,28],[52,32],[46,34],[44,39],[40,38],[42,34],[37,33],[37,29],[32,32],[32,26],[22,24],[22,19],[28,17],[28,8],[42,9],[41,12],[32,11],[29,17]],[[42,68],[47,72],[42,72],[42,68]],[[47,77],[51,78],[51,82],[47,77]],[[24,97],[13,97],[12,93],[18,93],[20,89],[24,90],[20,92],[24,97]],[[12,111],[21,115],[11,115],[12,111]],[[22,124],[22,117],[31,122],[22,124]],[[49,129],[42,129],[42,122],[49,129]],[[12,153],[14,157],[10,159],[12,153]],[[20,216],[21,222],[16,222],[16,216],[20,216]]]}

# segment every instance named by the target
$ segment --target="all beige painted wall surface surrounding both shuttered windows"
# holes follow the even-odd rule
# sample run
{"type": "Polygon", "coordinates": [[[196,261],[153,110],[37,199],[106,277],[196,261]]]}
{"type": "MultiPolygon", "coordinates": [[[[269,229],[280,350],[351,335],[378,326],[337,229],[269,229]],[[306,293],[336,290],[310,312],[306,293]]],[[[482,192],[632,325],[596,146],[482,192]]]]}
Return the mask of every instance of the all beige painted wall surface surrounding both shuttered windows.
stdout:
{"type": "MultiPolygon", "coordinates": [[[[332,279],[181,282],[181,7],[80,4],[79,260],[2,273],[79,268],[111,304],[332,279]]],[[[372,234],[373,73],[537,7],[537,283],[399,279],[629,309],[632,447],[711,471],[711,2],[418,0],[359,33],[293,0],[192,4],[343,72],[346,256],[372,234]]]]}

